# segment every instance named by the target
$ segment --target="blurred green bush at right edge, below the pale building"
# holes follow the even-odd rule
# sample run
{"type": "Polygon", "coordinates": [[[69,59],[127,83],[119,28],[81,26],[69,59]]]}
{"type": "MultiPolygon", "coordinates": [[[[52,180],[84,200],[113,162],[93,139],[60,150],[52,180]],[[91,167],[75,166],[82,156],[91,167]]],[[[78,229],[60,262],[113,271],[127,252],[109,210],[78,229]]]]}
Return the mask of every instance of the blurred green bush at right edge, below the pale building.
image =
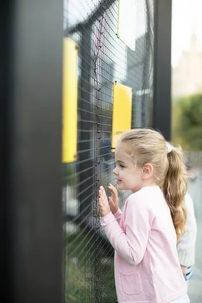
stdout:
{"type": "Polygon", "coordinates": [[[202,150],[202,95],[173,101],[172,141],[183,149],[202,150]]]}

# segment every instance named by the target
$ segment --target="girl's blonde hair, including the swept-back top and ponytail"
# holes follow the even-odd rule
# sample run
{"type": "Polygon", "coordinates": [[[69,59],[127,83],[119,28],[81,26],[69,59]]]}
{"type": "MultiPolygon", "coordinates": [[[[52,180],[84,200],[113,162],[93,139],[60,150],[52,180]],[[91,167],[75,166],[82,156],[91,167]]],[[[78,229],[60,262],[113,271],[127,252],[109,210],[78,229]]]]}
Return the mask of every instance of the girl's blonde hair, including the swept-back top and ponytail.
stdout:
{"type": "Polygon", "coordinates": [[[186,209],[184,195],[187,190],[187,173],[180,145],[167,153],[166,140],[153,129],[132,129],[122,134],[120,143],[135,166],[153,165],[157,185],[163,191],[170,208],[177,241],[185,232],[186,209]]]}

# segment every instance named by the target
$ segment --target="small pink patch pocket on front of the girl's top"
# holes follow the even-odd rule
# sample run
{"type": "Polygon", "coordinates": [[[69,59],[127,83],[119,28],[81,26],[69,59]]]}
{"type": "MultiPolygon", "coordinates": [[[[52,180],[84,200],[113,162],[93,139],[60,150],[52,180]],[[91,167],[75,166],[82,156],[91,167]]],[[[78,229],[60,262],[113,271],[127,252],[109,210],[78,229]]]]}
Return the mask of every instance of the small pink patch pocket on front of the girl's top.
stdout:
{"type": "Polygon", "coordinates": [[[126,294],[139,294],[142,291],[142,281],[139,271],[129,274],[121,273],[121,283],[126,294]]]}

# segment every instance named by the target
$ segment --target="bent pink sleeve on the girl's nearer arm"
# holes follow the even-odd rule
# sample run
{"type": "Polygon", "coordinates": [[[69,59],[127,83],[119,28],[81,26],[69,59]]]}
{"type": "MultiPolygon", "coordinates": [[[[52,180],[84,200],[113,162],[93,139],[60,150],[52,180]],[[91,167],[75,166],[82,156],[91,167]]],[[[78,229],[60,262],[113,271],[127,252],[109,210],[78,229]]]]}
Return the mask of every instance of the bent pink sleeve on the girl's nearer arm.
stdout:
{"type": "Polygon", "coordinates": [[[147,204],[132,199],[126,207],[125,231],[111,212],[100,221],[118,255],[128,264],[138,265],[146,250],[153,219],[147,204]]]}

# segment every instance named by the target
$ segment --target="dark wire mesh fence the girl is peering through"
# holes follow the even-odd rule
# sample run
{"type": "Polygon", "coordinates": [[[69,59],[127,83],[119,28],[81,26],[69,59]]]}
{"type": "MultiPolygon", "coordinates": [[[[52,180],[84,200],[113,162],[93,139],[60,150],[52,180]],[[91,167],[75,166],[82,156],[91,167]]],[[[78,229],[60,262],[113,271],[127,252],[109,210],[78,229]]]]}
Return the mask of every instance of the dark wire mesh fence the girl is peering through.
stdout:
{"type": "MultiPolygon", "coordinates": [[[[114,249],[100,228],[98,188],[116,185],[111,152],[113,82],[133,89],[132,128],[151,126],[153,0],[137,0],[136,12],[133,52],[117,37],[118,1],[64,2],[64,35],[78,46],[77,161],[64,165],[63,178],[66,302],[117,301],[114,249]]],[[[119,194],[121,207],[127,195],[119,194]]]]}

